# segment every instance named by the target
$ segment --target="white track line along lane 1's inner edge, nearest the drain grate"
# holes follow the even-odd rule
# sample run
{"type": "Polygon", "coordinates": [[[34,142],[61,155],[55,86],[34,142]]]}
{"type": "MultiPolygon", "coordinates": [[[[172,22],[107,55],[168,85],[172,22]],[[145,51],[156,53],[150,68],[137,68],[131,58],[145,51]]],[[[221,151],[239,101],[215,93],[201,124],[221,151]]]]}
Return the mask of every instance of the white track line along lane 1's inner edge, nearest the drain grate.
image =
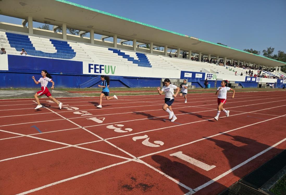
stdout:
{"type": "MultiPolygon", "coordinates": [[[[229,173],[235,171],[235,170],[238,169],[239,167],[245,165],[246,163],[248,163],[248,162],[252,161],[253,159],[259,157],[260,155],[264,154],[265,152],[271,150],[272,148],[275,148],[277,145],[283,143],[284,141],[286,141],[286,138],[284,138],[283,140],[281,140],[281,141],[277,142],[276,144],[270,146],[269,148],[263,150],[262,152],[260,152],[260,153],[258,153],[258,154],[256,154],[256,155],[254,155],[253,157],[247,159],[246,161],[240,163],[239,165],[236,165],[236,166],[233,167],[232,169],[229,169],[228,171],[224,172],[223,174],[217,176],[216,178],[214,178],[214,179],[212,179],[212,180],[206,182],[205,184],[203,184],[203,185],[201,185],[201,186],[195,188],[194,191],[197,192],[197,191],[201,190],[202,188],[205,188],[206,186],[209,186],[210,184],[216,182],[217,180],[219,180],[219,179],[225,177],[227,174],[229,174],[229,173]]],[[[191,192],[191,193],[189,192],[188,194],[193,194],[193,192],[191,192]]]]}

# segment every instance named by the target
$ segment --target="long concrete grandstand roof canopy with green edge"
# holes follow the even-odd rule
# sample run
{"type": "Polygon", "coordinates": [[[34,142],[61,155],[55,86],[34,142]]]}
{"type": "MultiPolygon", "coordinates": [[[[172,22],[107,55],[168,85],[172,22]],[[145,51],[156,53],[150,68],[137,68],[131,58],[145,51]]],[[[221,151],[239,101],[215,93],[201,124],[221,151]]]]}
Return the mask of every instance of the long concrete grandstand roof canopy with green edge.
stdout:
{"type": "Polygon", "coordinates": [[[251,54],[235,48],[222,46],[199,38],[165,30],[132,19],[78,5],[65,0],[2,0],[0,14],[21,19],[33,17],[33,21],[77,29],[85,32],[94,30],[106,36],[117,35],[117,38],[134,40],[142,43],[153,42],[153,45],[168,46],[171,49],[193,53],[211,54],[240,61],[251,62],[270,67],[286,65],[286,63],[251,54]]]}

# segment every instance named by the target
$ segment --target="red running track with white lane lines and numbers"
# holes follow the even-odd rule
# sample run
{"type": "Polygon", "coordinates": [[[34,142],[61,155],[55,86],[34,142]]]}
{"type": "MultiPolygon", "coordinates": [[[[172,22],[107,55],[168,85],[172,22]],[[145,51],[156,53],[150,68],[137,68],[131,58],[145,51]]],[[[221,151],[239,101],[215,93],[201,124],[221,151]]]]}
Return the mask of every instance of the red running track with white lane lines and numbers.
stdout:
{"type": "Polygon", "coordinates": [[[286,149],[286,92],[0,100],[0,194],[218,194],[286,149]]]}

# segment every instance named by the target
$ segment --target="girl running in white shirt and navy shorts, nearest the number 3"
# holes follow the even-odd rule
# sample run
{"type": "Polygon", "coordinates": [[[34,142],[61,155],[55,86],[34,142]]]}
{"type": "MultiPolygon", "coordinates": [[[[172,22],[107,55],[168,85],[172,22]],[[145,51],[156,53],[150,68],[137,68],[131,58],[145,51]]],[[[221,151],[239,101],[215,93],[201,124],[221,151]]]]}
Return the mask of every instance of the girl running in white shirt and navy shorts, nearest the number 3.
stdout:
{"type": "Polygon", "coordinates": [[[172,103],[174,102],[174,97],[176,97],[180,91],[180,88],[176,85],[172,85],[170,83],[170,79],[164,80],[164,87],[160,90],[160,87],[157,87],[158,93],[161,95],[165,92],[165,104],[163,105],[163,110],[169,113],[169,119],[173,118],[171,122],[174,122],[177,117],[175,116],[174,112],[172,111],[172,103]],[[174,89],[176,89],[176,93],[174,94],[174,89]]]}

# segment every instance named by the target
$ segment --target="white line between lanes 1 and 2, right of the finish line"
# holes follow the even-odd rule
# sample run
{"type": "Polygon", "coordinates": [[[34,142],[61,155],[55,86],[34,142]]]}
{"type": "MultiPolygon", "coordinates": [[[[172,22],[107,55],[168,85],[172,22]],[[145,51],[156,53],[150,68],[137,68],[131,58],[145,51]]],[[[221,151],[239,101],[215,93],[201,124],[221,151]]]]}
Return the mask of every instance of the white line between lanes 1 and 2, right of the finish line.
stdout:
{"type": "MultiPolygon", "coordinates": [[[[286,105],[284,105],[284,106],[286,106],[286,105]]],[[[242,114],[245,114],[245,113],[242,113],[242,114]]],[[[237,115],[239,115],[239,114],[237,114],[237,115]]],[[[283,116],[286,116],[286,114],[283,115],[283,116]]],[[[270,118],[270,119],[267,119],[267,120],[263,120],[263,121],[260,121],[260,122],[256,122],[256,123],[253,123],[253,124],[249,124],[249,125],[245,125],[245,126],[242,126],[242,127],[239,127],[239,128],[235,128],[235,129],[232,129],[232,130],[221,132],[221,133],[218,133],[218,134],[215,134],[215,135],[211,135],[211,136],[208,136],[208,137],[205,137],[205,138],[202,138],[202,139],[191,141],[189,143],[185,143],[185,144],[182,144],[182,145],[174,146],[172,148],[168,148],[168,149],[165,149],[165,150],[161,150],[161,151],[157,151],[157,152],[154,152],[154,153],[146,154],[146,155],[138,157],[138,159],[141,159],[141,158],[144,158],[144,157],[147,157],[147,156],[150,156],[150,155],[158,154],[158,153],[161,153],[161,152],[169,151],[169,150],[172,150],[172,149],[176,149],[176,148],[179,148],[179,147],[182,147],[182,146],[186,146],[186,145],[198,142],[198,141],[202,141],[202,140],[205,140],[205,139],[208,139],[208,138],[211,138],[211,137],[215,137],[215,136],[218,136],[218,135],[221,135],[221,134],[225,134],[225,133],[228,133],[228,132],[231,132],[231,131],[235,131],[235,130],[238,130],[238,129],[241,129],[241,128],[249,127],[249,126],[252,126],[252,125],[255,125],[255,124],[259,124],[259,123],[266,122],[266,121],[269,121],[269,120],[273,120],[273,119],[276,119],[276,118],[280,118],[280,117],[283,117],[283,116],[277,116],[275,118],[270,118]]],[[[224,116],[224,117],[226,117],[226,116],[224,116]]],[[[177,125],[177,126],[180,126],[180,125],[177,125]]]]}

